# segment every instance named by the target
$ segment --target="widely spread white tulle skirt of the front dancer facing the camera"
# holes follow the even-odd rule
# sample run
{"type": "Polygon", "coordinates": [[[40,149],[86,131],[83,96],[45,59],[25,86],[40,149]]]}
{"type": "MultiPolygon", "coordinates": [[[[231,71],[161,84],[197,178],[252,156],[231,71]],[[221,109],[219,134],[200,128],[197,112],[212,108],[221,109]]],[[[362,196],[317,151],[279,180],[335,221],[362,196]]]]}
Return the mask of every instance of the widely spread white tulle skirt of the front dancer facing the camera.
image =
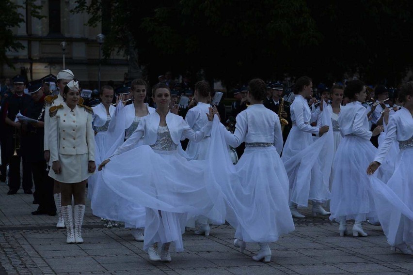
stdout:
{"type": "MultiPolygon", "coordinates": [[[[103,170],[102,189],[110,191],[106,195],[146,207],[144,249],[157,242],[175,242],[176,251],[182,251],[188,216],[224,222],[222,190],[210,180],[206,161],[188,161],[178,150],[154,151],[143,145],[112,157],[103,170]]],[[[99,207],[106,213],[112,210],[111,205],[99,207]]]]}

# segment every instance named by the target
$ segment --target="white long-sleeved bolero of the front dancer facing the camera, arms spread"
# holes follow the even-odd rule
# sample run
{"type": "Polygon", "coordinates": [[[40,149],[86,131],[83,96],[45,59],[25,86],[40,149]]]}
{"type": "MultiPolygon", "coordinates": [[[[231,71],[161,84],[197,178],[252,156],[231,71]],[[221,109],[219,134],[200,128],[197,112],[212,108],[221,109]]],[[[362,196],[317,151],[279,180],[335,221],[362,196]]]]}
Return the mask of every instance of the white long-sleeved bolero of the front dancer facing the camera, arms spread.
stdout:
{"type": "MultiPolygon", "coordinates": [[[[159,122],[160,117],[157,112],[143,117],[135,132],[115,151],[115,153],[113,153],[112,156],[119,155],[133,149],[135,144],[138,143],[142,137],[144,142],[143,144],[155,144],[158,138],[159,122]]],[[[171,112],[166,115],[166,124],[168,125],[172,141],[176,145],[179,144],[182,136],[191,141],[199,142],[211,134],[212,122],[208,121],[201,130],[195,132],[182,117],[171,112]]]]}

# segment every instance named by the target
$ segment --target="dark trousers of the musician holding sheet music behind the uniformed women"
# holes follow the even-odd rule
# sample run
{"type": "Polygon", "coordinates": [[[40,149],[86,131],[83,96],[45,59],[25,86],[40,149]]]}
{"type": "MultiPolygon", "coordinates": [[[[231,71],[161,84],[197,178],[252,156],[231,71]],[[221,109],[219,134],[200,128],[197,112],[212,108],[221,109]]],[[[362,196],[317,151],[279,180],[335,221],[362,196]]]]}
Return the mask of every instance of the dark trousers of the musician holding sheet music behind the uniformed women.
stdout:
{"type": "Polygon", "coordinates": [[[39,210],[56,211],[53,199],[53,179],[48,176],[46,161],[31,162],[33,173],[33,198],[39,204],[39,210]]]}

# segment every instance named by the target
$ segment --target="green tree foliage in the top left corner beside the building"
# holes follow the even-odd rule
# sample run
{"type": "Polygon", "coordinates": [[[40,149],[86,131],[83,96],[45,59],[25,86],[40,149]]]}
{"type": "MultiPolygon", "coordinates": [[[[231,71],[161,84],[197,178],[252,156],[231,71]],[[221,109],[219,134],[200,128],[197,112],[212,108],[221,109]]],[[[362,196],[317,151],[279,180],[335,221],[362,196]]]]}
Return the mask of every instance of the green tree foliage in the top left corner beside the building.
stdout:
{"type": "Polygon", "coordinates": [[[6,63],[10,67],[13,67],[13,63],[6,56],[6,53],[24,49],[24,46],[16,40],[12,30],[25,22],[24,15],[18,12],[20,8],[30,10],[33,17],[43,18],[40,15],[41,6],[36,5],[35,0],[25,0],[24,6],[16,4],[12,0],[0,1],[0,64],[6,63]]]}

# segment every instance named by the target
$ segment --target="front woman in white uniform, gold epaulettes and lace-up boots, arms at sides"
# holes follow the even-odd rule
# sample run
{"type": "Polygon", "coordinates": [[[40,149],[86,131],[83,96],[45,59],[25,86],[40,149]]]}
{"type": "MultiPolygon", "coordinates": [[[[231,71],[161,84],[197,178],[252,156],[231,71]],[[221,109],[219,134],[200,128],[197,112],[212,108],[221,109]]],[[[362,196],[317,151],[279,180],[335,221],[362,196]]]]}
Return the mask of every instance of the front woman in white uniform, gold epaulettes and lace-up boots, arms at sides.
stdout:
{"type": "Polygon", "coordinates": [[[61,184],[62,213],[68,244],[83,243],[81,225],[85,212],[86,181],[95,172],[95,139],[92,109],[79,104],[79,82],[64,87],[65,103],[50,107],[49,176],[61,184]],[[72,196],[75,199],[73,225],[72,196]]]}

